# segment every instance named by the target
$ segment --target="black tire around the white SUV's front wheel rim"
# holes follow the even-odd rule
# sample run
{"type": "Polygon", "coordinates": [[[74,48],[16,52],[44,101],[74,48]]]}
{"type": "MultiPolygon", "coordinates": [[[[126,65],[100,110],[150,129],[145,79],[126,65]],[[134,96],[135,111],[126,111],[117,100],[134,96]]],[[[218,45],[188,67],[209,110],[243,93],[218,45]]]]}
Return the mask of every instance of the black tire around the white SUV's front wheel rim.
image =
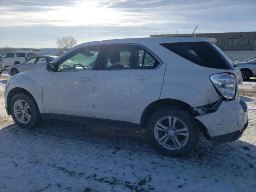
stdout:
{"type": "Polygon", "coordinates": [[[28,94],[16,94],[10,101],[10,114],[12,115],[12,119],[14,120],[14,122],[23,128],[34,128],[38,123],[41,122],[41,116],[40,116],[40,112],[38,109],[38,106],[36,104],[36,101],[34,100],[34,98],[32,98],[32,96],[28,95],[28,94]],[[28,104],[28,106],[30,107],[30,115],[31,118],[28,122],[26,123],[22,123],[20,122],[16,116],[14,115],[14,104],[16,101],[18,100],[23,100],[24,102],[26,102],[28,104]]]}

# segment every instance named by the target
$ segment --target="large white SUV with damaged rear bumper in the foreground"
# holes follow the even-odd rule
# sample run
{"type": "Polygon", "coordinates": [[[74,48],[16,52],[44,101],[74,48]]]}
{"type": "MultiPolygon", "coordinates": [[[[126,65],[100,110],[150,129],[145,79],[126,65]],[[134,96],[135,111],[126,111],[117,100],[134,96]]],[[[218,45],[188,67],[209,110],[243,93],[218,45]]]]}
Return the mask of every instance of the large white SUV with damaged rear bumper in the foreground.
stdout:
{"type": "Polygon", "coordinates": [[[240,138],[248,124],[238,68],[196,37],[80,44],[41,68],[12,76],[7,113],[21,127],[42,118],[147,129],[154,148],[184,156],[199,132],[213,145],[240,138]]]}

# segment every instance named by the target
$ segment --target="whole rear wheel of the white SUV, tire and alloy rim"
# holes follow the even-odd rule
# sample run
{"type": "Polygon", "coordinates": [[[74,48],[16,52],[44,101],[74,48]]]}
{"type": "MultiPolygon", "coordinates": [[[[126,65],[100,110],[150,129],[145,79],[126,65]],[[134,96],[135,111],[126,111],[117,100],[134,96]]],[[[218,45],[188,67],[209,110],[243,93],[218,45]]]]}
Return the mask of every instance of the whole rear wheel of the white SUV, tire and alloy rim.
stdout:
{"type": "Polygon", "coordinates": [[[173,157],[191,152],[199,138],[194,117],[181,109],[156,111],[148,122],[147,134],[158,152],[173,157]]]}

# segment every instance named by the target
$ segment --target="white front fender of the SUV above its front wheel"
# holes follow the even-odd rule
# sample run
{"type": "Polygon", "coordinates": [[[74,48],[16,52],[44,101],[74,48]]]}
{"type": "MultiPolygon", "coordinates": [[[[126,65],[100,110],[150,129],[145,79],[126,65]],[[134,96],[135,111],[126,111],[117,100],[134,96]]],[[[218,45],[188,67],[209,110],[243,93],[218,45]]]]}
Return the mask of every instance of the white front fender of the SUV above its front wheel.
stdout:
{"type": "Polygon", "coordinates": [[[44,113],[42,87],[45,76],[46,70],[43,68],[11,76],[5,87],[5,106],[7,107],[7,97],[9,92],[14,88],[23,88],[30,92],[30,94],[34,97],[40,113],[44,113]]]}

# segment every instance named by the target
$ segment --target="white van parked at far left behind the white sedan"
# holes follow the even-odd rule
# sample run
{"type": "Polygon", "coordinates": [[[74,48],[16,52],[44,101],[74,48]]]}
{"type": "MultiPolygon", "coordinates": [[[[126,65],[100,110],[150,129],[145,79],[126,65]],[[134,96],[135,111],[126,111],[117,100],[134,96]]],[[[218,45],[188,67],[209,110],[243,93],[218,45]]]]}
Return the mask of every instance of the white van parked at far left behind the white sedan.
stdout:
{"type": "Polygon", "coordinates": [[[11,65],[21,64],[28,58],[38,55],[36,52],[20,51],[20,52],[8,52],[2,54],[1,58],[4,60],[4,67],[7,68],[11,65]]]}

